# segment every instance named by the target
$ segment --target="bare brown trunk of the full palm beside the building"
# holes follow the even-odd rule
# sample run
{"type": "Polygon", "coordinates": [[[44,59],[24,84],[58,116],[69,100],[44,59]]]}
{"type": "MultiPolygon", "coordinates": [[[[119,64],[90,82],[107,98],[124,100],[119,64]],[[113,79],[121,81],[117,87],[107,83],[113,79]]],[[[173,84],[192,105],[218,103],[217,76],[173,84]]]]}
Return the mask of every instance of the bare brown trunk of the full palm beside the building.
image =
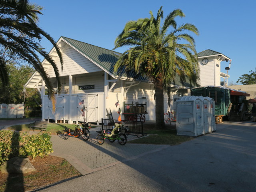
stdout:
{"type": "Polygon", "coordinates": [[[156,129],[163,129],[164,124],[164,85],[161,79],[155,82],[156,96],[156,129]]]}

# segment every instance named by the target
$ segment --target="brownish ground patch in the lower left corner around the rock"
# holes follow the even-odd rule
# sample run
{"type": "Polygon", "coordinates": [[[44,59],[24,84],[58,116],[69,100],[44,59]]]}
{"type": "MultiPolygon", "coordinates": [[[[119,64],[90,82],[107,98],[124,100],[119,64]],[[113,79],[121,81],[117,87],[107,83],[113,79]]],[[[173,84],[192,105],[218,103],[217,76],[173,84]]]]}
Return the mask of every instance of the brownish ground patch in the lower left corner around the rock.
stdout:
{"type": "Polygon", "coordinates": [[[0,173],[0,192],[24,192],[80,176],[66,160],[55,156],[30,158],[36,171],[26,174],[0,173]]]}

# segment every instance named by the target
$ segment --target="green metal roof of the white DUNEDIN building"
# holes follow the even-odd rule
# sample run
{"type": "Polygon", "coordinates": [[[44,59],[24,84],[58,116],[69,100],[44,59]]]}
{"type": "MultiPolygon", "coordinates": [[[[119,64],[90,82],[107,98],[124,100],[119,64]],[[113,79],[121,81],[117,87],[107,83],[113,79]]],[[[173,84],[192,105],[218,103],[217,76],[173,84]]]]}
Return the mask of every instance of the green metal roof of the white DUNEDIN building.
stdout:
{"type": "MultiPolygon", "coordinates": [[[[128,72],[125,67],[120,67],[117,72],[114,72],[114,65],[120,57],[121,53],[84,43],[78,40],[70,39],[61,36],[70,46],[74,47],[80,53],[84,54],[88,59],[92,60],[99,67],[103,68],[113,76],[122,76],[125,78],[134,78],[146,82],[152,82],[148,77],[136,74],[134,71],[128,72]]],[[[175,85],[182,86],[179,76],[175,77],[175,85]]],[[[189,83],[185,82],[184,87],[190,87],[189,83]]]]}

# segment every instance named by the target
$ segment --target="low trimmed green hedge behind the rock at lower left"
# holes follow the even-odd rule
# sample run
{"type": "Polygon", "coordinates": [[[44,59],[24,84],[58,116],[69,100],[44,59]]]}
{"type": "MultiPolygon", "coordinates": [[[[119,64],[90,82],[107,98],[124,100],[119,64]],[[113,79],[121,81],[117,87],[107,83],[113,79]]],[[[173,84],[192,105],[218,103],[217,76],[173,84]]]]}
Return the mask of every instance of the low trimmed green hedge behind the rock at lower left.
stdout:
{"type": "Polygon", "coordinates": [[[43,157],[53,152],[51,136],[47,133],[0,131],[0,165],[12,157],[43,157]]]}

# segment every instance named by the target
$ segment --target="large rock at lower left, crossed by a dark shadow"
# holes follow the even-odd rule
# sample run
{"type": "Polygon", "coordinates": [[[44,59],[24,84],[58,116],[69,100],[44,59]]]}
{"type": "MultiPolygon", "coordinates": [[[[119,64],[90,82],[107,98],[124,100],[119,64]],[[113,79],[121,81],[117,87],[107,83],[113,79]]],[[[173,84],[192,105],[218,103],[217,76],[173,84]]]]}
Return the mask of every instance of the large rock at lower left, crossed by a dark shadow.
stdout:
{"type": "Polygon", "coordinates": [[[14,157],[1,166],[2,173],[24,174],[32,171],[36,171],[36,169],[32,166],[28,158],[14,157]]]}

